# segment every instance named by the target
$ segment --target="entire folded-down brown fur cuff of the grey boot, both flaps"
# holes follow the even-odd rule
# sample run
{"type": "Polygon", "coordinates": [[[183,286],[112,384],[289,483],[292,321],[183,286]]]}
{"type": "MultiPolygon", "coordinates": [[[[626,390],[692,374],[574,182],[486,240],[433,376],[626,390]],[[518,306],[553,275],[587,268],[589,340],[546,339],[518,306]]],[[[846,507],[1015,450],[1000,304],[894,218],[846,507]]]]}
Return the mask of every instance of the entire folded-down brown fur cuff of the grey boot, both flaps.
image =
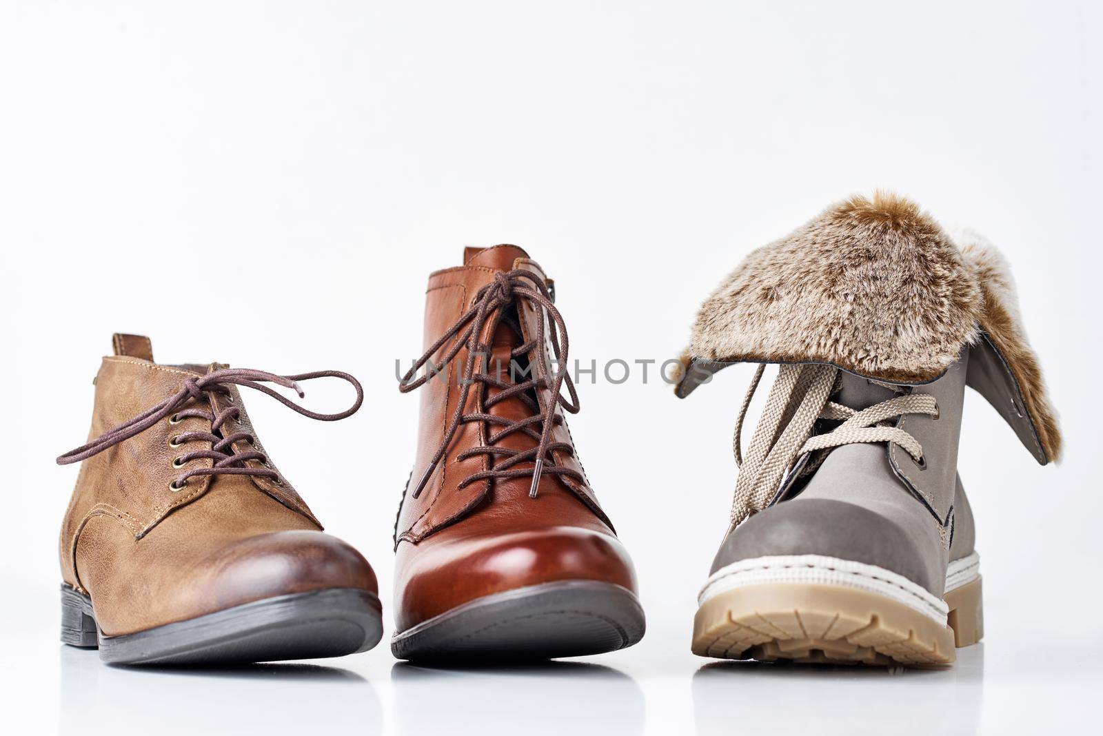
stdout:
{"type": "Polygon", "coordinates": [[[975,234],[951,237],[909,199],[876,193],[743,259],[702,305],[676,391],[743,361],[822,362],[919,385],[964,349],[968,383],[1039,463],[1057,459],[1057,414],[1004,258],[975,234]]]}

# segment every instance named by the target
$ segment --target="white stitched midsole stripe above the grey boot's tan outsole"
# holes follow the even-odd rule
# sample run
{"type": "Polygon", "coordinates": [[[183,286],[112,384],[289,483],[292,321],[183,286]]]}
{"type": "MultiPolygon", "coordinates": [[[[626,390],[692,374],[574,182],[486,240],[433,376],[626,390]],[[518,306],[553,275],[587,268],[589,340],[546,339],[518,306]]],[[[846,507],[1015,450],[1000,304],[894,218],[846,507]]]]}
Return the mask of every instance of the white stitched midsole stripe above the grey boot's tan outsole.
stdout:
{"type": "MultiPolygon", "coordinates": [[[[946,569],[946,592],[975,580],[979,565],[981,558],[975,552],[951,562],[946,569]]],[[[877,565],[822,554],[772,555],[733,562],[709,576],[697,603],[703,605],[735,588],[768,583],[835,585],[876,593],[941,624],[946,621],[949,613],[945,600],[903,575],[877,565]]]]}

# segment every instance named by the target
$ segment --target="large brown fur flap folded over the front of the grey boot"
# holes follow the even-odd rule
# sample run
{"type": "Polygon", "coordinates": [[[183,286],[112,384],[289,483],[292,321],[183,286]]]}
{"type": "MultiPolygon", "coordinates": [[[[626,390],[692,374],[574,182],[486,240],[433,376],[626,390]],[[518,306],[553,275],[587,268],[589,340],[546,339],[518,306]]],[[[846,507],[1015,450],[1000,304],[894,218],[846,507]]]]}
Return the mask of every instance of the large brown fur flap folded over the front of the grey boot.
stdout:
{"type": "Polygon", "coordinates": [[[922,382],[976,339],[981,300],[929,215],[891,194],[854,196],[751,252],[705,301],[692,351],[922,382]]]}

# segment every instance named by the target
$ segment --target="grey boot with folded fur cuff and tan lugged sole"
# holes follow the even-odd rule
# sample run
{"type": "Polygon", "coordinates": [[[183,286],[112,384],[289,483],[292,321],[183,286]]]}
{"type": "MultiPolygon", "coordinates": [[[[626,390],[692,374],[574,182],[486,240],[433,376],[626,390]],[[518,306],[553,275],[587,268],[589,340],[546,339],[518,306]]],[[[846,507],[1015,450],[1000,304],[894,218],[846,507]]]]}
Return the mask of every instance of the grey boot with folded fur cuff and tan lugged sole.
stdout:
{"type": "Polygon", "coordinates": [[[838,203],[753,251],[705,302],[679,397],[740,361],[731,523],[693,650],[728,659],[946,663],[983,635],[957,477],[966,386],[1041,464],[1057,419],[1010,273],[891,195],[838,203]],[[743,416],[781,364],[746,455],[743,416]]]}

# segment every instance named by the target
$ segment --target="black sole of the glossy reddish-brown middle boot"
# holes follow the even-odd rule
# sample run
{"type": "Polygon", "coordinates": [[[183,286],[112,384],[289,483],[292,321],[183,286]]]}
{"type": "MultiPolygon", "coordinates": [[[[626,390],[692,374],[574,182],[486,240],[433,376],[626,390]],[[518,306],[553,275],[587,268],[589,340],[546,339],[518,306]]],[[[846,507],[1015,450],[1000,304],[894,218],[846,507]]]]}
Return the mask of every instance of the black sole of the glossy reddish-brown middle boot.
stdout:
{"type": "Polygon", "coordinates": [[[390,639],[395,657],[421,661],[538,660],[600,654],[643,638],[643,608],[619,585],[564,581],[495,593],[390,639]]]}

